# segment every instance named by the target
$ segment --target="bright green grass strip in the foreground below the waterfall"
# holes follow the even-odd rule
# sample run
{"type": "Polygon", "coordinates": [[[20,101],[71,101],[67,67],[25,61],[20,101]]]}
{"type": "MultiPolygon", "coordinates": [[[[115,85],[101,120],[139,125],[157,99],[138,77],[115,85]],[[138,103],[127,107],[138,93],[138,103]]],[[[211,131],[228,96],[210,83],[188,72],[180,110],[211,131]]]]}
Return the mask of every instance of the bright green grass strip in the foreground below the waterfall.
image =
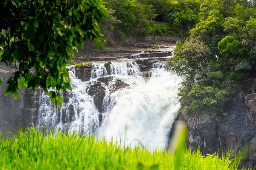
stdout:
{"type": "Polygon", "coordinates": [[[125,149],[113,142],[80,134],[42,135],[34,128],[12,139],[0,135],[0,170],[232,170],[228,156],[202,157],[177,147],[176,152],[125,149]],[[18,137],[17,137],[18,136],[18,137]]]}

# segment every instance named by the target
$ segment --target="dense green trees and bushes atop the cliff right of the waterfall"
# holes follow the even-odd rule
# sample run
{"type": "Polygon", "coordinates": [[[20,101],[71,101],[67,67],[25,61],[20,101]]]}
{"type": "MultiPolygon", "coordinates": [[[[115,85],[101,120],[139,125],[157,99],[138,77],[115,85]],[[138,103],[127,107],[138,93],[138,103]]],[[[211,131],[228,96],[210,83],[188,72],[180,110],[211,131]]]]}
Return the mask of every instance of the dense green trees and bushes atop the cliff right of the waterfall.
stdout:
{"type": "Polygon", "coordinates": [[[235,82],[256,70],[256,1],[203,0],[199,16],[166,69],[183,78],[183,113],[218,114],[235,82]]]}

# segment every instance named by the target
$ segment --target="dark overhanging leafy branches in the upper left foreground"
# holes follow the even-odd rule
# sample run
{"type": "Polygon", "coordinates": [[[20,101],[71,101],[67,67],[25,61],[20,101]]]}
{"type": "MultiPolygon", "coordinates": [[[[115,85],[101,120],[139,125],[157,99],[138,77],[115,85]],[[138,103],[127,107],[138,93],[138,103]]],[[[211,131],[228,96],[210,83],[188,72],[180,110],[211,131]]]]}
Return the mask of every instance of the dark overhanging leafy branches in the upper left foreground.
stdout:
{"type": "MultiPolygon", "coordinates": [[[[15,99],[23,86],[49,92],[60,106],[60,91],[70,89],[66,63],[83,40],[103,48],[97,22],[108,13],[100,0],[2,0],[0,2],[0,62],[13,65],[5,95],[15,99]]],[[[0,84],[1,78],[0,78],[0,84]]]]}

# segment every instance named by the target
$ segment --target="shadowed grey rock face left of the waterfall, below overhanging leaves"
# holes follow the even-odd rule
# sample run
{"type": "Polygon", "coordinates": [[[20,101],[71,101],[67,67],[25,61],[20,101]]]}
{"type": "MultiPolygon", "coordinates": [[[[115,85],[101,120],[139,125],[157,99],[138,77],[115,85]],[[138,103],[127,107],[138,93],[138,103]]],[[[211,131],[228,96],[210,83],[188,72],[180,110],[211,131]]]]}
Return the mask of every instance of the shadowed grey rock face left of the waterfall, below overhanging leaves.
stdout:
{"type": "Polygon", "coordinates": [[[0,72],[3,84],[0,86],[0,131],[19,131],[19,128],[28,127],[30,123],[36,124],[39,108],[39,97],[43,90],[20,89],[18,99],[12,95],[4,97],[6,82],[13,72],[0,72]]]}

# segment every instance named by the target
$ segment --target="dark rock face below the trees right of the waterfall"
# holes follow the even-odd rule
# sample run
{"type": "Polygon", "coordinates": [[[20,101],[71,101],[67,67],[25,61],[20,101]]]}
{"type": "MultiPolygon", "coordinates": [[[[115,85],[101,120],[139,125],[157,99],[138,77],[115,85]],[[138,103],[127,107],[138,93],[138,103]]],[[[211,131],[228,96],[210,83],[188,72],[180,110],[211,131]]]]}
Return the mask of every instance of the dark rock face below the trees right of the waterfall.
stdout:
{"type": "Polygon", "coordinates": [[[200,147],[206,155],[231,149],[231,156],[234,156],[249,144],[250,154],[244,164],[256,166],[256,93],[254,84],[247,85],[252,87],[245,92],[249,94],[245,98],[238,93],[230,97],[223,115],[178,115],[177,121],[185,121],[188,125],[187,145],[192,150],[200,147]]]}

